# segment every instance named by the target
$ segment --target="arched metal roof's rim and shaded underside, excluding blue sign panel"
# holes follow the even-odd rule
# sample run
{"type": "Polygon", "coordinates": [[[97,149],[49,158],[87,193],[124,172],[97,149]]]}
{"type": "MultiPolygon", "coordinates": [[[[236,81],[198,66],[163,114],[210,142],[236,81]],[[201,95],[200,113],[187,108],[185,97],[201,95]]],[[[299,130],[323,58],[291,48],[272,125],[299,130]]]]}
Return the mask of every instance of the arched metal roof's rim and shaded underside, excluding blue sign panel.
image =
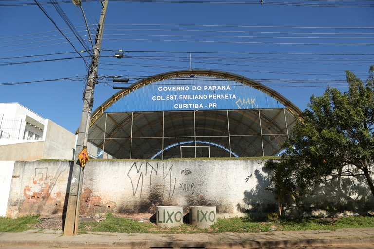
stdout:
{"type": "MultiPolygon", "coordinates": [[[[196,150],[205,150],[204,146],[215,148],[213,156],[274,155],[279,153],[279,144],[284,142],[294,125],[294,116],[301,120],[301,110],[275,90],[241,75],[223,71],[172,71],[140,80],[130,87],[131,90],[121,90],[105,101],[90,119],[89,141],[116,158],[173,157],[179,154],[181,146],[186,146],[187,151],[188,144],[194,147],[195,156],[196,150]],[[269,95],[285,108],[199,112],[106,111],[130,92],[144,86],[192,76],[241,83],[269,95]]],[[[180,151],[182,153],[182,149],[180,151]]],[[[206,156],[206,152],[202,154],[206,156]]]]}

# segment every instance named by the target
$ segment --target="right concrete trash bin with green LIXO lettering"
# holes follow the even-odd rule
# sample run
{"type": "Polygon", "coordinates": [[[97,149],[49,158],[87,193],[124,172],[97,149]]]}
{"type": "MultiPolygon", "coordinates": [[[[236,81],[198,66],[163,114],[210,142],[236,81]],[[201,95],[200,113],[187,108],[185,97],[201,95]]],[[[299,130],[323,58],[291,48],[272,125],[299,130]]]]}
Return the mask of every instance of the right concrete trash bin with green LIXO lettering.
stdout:
{"type": "Polygon", "coordinates": [[[199,228],[208,228],[216,224],[216,206],[189,207],[189,222],[199,228]]]}

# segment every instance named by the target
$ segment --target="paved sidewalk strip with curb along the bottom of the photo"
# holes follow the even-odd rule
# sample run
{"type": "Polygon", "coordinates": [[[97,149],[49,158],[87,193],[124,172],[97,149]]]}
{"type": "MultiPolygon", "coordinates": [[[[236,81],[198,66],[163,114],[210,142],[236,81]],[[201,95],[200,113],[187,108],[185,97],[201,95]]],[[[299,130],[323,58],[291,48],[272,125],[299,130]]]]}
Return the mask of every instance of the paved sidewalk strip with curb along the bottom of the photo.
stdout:
{"type": "Polygon", "coordinates": [[[335,231],[269,231],[220,234],[129,234],[92,232],[63,236],[61,230],[1,232],[0,247],[61,248],[259,248],[364,244],[374,247],[374,228],[335,231]]]}

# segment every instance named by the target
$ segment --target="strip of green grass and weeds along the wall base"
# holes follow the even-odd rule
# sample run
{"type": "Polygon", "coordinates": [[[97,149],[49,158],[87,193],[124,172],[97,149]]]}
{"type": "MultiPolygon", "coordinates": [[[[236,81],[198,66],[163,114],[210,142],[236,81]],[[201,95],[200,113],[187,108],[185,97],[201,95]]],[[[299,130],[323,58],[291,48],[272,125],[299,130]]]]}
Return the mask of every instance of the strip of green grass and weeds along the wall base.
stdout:
{"type": "MultiPolygon", "coordinates": [[[[48,219],[52,221],[51,218],[48,219]]],[[[38,215],[25,216],[17,219],[0,217],[0,232],[21,232],[30,229],[43,229],[43,219],[38,215]]],[[[61,220],[56,220],[61,224],[61,220]]],[[[255,220],[250,217],[217,219],[217,224],[208,229],[200,229],[189,224],[174,228],[161,228],[150,221],[139,222],[137,219],[106,215],[97,221],[82,221],[79,223],[78,234],[89,232],[122,232],[122,233],[159,233],[159,234],[191,234],[191,233],[243,233],[264,231],[292,230],[336,230],[342,228],[374,227],[374,217],[347,216],[334,218],[305,218],[302,221],[290,219],[255,220]]],[[[57,229],[48,227],[45,229],[57,229]]],[[[58,230],[61,230],[59,228],[58,230]]]]}

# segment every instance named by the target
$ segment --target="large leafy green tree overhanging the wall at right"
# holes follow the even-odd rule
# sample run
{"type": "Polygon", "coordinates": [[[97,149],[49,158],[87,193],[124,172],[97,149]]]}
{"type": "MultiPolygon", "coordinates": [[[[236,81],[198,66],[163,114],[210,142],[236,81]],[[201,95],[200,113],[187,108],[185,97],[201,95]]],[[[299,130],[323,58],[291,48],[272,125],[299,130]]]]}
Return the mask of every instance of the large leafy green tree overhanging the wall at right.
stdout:
{"type": "Polygon", "coordinates": [[[284,144],[281,163],[292,167],[302,190],[327,176],[364,176],[374,197],[374,66],[366,83],[350,71],[346,79],[347,92],[328,87],[323,96],[312,95],[304,122],[284,144]]]}

